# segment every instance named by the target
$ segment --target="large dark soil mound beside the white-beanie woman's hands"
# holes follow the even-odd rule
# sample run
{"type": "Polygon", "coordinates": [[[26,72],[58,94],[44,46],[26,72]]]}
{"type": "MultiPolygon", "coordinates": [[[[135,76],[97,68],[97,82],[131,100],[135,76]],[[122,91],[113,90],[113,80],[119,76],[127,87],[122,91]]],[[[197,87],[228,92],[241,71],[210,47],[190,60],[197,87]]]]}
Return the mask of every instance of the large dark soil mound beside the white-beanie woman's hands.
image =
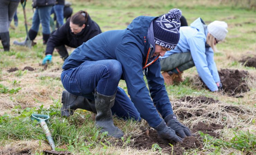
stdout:
{"type": "Polygon", "coordinates": [[[245,78],[249,75],[247,71],[221,69],[218,72],[224,92],[235,96],[250,91],[245,81],[245,78]]]}

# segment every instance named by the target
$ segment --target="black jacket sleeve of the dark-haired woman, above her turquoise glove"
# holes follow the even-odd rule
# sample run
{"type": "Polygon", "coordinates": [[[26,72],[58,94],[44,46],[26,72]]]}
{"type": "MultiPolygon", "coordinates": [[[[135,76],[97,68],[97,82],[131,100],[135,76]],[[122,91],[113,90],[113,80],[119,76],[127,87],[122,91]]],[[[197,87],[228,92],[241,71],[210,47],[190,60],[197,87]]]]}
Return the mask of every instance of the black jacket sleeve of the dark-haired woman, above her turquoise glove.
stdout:
{"type": "Polygon", "coordinates": [[[63,39],[67,37],[67,29],[69,29],[69,21],[58,28],[51,37],[48,39],[46,44],[45,54],[53,54],[53,50],[56,46],[63,44],[63,39]]]}

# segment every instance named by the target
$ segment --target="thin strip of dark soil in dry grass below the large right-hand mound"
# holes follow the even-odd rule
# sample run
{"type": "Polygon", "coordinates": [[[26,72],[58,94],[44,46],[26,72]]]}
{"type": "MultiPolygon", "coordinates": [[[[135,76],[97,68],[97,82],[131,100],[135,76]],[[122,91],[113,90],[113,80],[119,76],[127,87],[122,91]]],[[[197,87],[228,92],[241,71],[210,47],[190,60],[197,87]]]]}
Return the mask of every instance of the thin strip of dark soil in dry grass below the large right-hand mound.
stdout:
{"type": "Polygon", "coordinates": [[[202,103],[202,104],[211,104],[211,103],[218,103],[220,102],[219,100],[214,100],[211,97],[205,97],[205,96],[198,96],[198,97],[191,97],[191,96],[185,96],[182,97],[179,101],[181,102],[190,102],[192,104],[198,104],[198,103],[202,103]]]}

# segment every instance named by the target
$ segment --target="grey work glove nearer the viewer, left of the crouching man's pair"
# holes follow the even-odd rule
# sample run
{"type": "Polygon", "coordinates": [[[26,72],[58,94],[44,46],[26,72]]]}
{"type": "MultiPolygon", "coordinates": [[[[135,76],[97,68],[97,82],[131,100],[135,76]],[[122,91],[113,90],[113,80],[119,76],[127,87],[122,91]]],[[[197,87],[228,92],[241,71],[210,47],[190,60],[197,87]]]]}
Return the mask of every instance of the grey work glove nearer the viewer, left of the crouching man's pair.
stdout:
{"type": "Polygon", "coordinates": [[[164,142],[182,142],[182,138],[177,136],[174,130],[166,126],[164,120],[159,125],[153,128],[157,131],[158,136],[162,138],[164,142]]]}

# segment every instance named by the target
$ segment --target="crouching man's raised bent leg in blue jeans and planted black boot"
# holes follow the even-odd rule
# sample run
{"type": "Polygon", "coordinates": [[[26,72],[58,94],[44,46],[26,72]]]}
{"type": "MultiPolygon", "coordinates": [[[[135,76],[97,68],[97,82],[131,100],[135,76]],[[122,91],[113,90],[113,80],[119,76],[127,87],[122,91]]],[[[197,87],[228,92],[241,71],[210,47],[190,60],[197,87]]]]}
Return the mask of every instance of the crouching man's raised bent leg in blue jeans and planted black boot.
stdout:
{"type": "Polygon", "coordinates": [[[124,135],[113,124],[111,112],[121,74],[122,66],[117,60],[85,61],[61,74],[62,84],[68,92],[79,96],[94,94],[95,126],[101,127],[101,133],[107,131],[116,138],[124,135]]]}

